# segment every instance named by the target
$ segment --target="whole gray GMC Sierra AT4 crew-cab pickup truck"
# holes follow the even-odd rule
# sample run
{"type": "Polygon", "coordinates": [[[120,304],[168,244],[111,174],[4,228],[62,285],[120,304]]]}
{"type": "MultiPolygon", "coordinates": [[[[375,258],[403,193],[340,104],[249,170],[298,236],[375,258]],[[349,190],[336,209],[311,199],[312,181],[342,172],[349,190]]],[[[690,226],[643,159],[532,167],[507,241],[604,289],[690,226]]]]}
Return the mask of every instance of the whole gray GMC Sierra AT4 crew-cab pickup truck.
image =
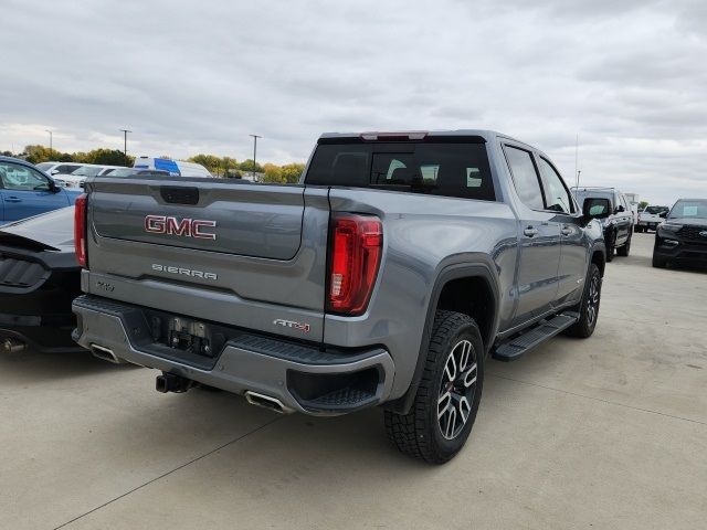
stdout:
{"type": "Polygon", "coordinates": [[[464,445],[487,356],[597,325],[605,248],[550,159],[493,131],[327,134],[298,184],[89,179],[74,338],[278,412],[382,405],[403,453],[464,445]]]}

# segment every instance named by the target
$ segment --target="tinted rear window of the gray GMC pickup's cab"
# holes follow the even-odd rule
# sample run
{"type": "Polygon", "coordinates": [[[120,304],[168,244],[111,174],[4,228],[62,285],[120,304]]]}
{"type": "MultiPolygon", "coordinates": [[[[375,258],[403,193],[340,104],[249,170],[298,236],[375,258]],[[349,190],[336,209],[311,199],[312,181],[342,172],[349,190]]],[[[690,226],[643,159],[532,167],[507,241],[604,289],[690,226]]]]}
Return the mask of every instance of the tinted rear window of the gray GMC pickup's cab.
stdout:
{"type": "Polygon", "coordinates": [[[306,183],[496,200],[484,144],[319,145],[306,183]]]}

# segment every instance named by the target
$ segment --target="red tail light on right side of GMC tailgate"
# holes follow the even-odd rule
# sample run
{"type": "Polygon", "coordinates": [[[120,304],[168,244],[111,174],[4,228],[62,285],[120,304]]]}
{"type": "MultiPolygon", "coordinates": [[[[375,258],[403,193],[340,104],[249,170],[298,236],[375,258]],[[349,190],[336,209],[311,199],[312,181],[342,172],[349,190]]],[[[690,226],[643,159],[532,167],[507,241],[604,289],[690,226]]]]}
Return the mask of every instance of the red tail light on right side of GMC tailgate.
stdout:
{"type": "Polygon", "coordinates": [[[330,241],[328,310],[360,315],[366,311],[380,265],[383,243],[380,219],[337,214],[330,241]]]}

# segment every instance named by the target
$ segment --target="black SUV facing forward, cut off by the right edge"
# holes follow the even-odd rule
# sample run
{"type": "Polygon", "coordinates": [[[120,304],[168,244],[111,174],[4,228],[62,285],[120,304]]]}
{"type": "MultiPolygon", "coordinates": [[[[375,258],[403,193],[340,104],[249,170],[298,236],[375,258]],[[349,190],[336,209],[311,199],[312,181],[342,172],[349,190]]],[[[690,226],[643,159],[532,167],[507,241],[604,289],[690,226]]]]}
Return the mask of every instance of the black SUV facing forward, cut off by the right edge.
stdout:
{"type": "Polygon", "coordinates": [[[707,265],[707,199],[680,199],[662,214],[653,247],[653,266],[707,265]]]}

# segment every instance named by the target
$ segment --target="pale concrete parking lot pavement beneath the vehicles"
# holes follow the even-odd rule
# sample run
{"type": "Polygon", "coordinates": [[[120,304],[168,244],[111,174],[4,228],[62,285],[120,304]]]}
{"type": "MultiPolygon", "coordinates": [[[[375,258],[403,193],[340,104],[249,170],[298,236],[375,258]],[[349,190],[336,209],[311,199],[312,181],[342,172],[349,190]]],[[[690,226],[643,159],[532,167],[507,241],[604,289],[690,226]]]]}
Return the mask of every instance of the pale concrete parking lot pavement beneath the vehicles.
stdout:
{"type": "Polygon", "coordinates": [[[378,410],[278,416],[87,354],[0,358],[0,527],[704,529],[707,274],[633,237],[594,336],[489,361],[442,467],[397,454],[378,410]]]}

